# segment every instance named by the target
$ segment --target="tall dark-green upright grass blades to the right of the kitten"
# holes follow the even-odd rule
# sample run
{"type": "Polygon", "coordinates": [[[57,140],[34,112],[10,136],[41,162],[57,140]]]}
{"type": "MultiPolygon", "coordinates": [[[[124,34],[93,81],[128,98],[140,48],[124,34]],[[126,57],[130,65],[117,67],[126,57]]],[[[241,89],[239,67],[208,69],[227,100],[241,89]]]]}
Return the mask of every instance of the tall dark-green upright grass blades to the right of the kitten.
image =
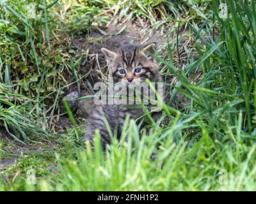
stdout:
{"type": "MultiPolygon", "coordinates": [[[[163,62],[178,78],[170,103],[177,91],[191,99],[191,113],[207,123],[216,138],[223,140],[227,125],[236,126],[242,115],[241,130],[245,138],[254,138],[255,125],[255,2],[227,1],[227,18],[219,16],[217,1],[212,1],[213,13],[196,25],[195,48],[199,59],[186,70],[175,69],[172,52],[170,62],[163,62]],[[189,73],[202,72],[200,80],[191,82],[189,73]],[[180,87],[184,88],[181,89],[180,87]]],[[[244,139],[245,139],[244,138],[244,139]]],[[[249,140],[251,141],[251,140],[249,140]]]]}

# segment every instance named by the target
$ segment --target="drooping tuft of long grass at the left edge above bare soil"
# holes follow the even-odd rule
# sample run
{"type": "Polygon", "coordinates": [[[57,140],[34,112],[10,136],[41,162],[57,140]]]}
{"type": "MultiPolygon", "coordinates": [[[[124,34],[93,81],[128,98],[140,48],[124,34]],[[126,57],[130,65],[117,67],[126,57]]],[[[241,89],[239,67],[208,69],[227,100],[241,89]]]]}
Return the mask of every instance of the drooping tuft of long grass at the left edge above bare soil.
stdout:
{"type": "Polygon", "coordinates": [[[21,143],[24,143],[24,140],[41,140],[47,136],[45,127],[36,123],[33,103],[35,101],[8,91],[6,86],[0,83],[0,134],[8,133],[21,143]]]}

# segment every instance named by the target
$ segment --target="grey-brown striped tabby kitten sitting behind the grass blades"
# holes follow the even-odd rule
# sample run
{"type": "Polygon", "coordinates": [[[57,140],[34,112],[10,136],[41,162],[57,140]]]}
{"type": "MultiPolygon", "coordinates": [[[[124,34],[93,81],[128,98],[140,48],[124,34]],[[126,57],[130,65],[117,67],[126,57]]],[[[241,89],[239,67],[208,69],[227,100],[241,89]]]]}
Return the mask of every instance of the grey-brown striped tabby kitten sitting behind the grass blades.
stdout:
{"type": "MultiPolygon", "coordinates": [[[[114,86],[120,84],[129,86],[134,82],[143,83],[148,78],[151,82],[162,82],[157,64],[148,57],[145,50],[150,50],[149,45],[128,44],[121,47],[116,53],[106,48],[102,52],[106,56],[110,70],[109,79],[114,86]]],[[[110,142],[108,129],[105,121],[108,121],[112,133],[117,133],[118,138],[122,132],[125,117],[129,115],[132,119],[138,119],[144,112],[141,108],[131,108],[124,105],[97,105],[87,119],[84,142],[90,142],[93,147],[95,130],[99,129],[101,141],[106,146],[110,142]]]]}

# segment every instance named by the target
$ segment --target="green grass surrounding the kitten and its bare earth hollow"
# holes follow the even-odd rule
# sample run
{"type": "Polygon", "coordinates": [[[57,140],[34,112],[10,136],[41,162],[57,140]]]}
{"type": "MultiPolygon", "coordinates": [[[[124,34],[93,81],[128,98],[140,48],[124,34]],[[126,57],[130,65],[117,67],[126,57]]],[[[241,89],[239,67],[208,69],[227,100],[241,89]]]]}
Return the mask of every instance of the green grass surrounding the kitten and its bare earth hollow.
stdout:
{"type": "Polygon", "coordinates": [[[15,139],[0,138],[0,161],[17,158],[3,170],[0,163],[0,190],[256,190],[255,1],[225,1],[227,19],[220,18],[219,1],[72,1],[70,8],[66,1],[35,1],[36,19],[28,18],[26,3],[15,3],[0,3],[6,8],[0,13],[0,134],[15,139]],[[177,52],[178,34],[166,41],[165,57],[154,56],[172,89],[163,117],[140,130],[127,119],[120,142],[114,135],[106,152],[97,133],[92,152],[66,103],[74,128],[56,135],[49,121],[70,85],[63,71],[75,76],[72,83],[83,77],[83,54],[74,57],[70,41],[101,30],[112,15],[120,22],[148,20],[161,32],[171,20],[166,35],[186,27],[195,43],[177,52]],[[178,92],[190,99],[180,110],[171,106],[178,92]],[[28,182],[30,170],[35,184],[28,182]]]}

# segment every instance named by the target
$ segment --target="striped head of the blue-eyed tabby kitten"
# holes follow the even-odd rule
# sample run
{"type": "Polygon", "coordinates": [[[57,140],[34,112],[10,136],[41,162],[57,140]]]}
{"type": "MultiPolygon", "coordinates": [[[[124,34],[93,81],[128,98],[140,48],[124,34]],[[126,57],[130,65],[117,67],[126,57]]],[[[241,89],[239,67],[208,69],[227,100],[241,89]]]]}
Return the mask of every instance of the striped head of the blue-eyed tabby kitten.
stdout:
{"type": "Polygon", "coordinates": [[[121,47],[116,53],[106,48],[101,48],[109,62],[109,78],[114,84],[124,82],[145,82],[148,78],[151,82],[161,82],[157,64],[145,54],[152,48],[153,43],[148,45],[128,44],[121,47]]]}

